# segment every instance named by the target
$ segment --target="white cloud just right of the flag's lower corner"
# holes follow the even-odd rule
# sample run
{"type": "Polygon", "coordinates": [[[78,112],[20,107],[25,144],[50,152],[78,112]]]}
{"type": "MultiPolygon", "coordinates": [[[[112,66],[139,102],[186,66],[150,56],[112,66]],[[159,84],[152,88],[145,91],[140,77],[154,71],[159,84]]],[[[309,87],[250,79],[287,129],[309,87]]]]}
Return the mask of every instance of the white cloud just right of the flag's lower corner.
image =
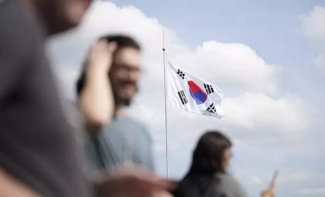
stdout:
{"type": "Polygon", "coordinates": [[[246,92],[240,97],[227,97],[222,107],[228,124],[250,130],[267,128],[292,135],[310,125],[308,107],[293,95],[274,100],[265,94],[246,92]]]}

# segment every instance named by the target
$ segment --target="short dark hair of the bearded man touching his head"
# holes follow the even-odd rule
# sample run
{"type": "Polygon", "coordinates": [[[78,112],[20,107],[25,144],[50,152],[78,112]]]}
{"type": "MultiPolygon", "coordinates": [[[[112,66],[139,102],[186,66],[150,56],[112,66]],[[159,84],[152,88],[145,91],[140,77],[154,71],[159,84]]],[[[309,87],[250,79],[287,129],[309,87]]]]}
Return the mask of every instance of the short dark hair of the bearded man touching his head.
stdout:
{"type": "MultiPolygon", "coordinates": [[[[136,42],[133,38],[125,35],[108,35],[108,36],[103,36],[99,38],[99,40],[105,39],[108,42],[116,42],[118,44],[118,48],[115,53],[117,53],[120,49],[123,48],[133,48],[136,50],[141,51],[141,47],[138,42],[136,42]]],[[[86,83],[86,64],[87,64],[87,59],[85,60],[82,68],[82,72],[79,76],[79,79],[77,80],[76,84],[76,90],[77,90],[77,95],[79,96],[81,91],[83,90],[85,83],[86,83]]],[[[108,73],[107,73],[108,74],[108,73]]]]}

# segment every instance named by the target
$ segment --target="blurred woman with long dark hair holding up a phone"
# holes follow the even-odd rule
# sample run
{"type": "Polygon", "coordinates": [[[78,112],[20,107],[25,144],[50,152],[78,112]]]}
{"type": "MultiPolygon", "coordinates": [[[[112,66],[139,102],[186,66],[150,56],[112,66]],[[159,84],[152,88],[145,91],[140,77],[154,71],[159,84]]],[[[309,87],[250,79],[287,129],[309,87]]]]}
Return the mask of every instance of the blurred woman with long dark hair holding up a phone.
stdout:
{"type": "MultiPolygon", "coordinates": [[[[201,136],[193,152],[190,170],[180,181],[175,197],[245,197],[242,185],[227,172],[231,160],[231,141],[218,131],[201,136]]],[[[262,191],[273,197],[275,185],[262,191]]]]}

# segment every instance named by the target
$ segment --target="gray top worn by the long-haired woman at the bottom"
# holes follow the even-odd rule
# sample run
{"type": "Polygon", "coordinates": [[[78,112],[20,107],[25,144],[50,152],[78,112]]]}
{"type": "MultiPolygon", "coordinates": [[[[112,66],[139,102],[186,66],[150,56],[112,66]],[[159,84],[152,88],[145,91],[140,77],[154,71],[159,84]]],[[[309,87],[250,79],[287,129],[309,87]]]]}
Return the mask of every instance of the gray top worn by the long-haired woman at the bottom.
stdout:
{"type": "Polygon", "coordinates": [[[226,173],[215,174],[218,184],[214,185],[214,189],[207,193],[207,196],[220,196],[220,197],[247,197],[246,190],[236,180],[235,177],[226,173]]]}

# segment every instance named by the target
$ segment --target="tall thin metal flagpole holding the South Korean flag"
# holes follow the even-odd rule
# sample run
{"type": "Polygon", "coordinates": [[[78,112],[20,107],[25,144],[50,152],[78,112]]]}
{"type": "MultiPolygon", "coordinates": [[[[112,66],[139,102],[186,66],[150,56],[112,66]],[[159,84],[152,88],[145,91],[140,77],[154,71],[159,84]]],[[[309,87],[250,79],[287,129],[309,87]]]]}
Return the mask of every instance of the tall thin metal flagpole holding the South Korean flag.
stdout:
{"type": "Polygon", "coordinates": [[[164,85],[165,85],[165,129],[166,129],[166,166],[167,178],[169,179],[169,154],[168,154],[168,130],[167,130],[167,76],[166,76],[166,59],[165,59],[165,33],[163,31],[163,60],[164,60],[164,85]]]}

